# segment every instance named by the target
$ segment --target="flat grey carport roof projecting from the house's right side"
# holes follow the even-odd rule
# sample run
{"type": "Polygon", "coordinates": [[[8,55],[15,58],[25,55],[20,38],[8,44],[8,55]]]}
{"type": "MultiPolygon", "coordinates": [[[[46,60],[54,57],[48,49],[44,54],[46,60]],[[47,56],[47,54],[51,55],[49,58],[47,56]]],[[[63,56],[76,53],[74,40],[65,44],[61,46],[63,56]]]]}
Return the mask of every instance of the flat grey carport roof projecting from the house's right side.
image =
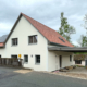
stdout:
{"type": "Polygon", "coordinates": [[[87,52],[87,47],[48,47],[51,51],[87,52]]]}

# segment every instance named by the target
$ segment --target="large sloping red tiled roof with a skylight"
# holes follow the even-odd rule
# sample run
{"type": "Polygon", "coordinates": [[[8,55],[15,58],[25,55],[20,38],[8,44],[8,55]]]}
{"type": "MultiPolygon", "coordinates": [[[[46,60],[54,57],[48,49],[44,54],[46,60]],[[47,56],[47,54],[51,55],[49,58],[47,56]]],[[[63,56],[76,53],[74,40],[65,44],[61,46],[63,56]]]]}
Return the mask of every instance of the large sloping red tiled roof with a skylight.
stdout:
{"type": "Polygon", "coordinates": [[[58,32],[49,28],[48,26],[33,20],[32,17],[21,13],[29,23],[37,28],[50,42],[60,44],[67,47],[74,47],[65,38],[63,38],[58,32]],[[65,42],[59,39],[61,37],[65,42]]]}

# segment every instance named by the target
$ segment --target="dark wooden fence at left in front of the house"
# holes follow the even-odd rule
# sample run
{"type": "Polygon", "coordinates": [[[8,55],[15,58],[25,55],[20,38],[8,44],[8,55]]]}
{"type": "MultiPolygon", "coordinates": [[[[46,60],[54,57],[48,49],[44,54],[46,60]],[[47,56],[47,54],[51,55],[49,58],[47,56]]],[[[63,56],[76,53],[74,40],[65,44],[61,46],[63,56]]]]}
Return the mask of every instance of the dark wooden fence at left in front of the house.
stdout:
{"type": "Polygon", "coordinates": [[[13,58],[0,58],[0,65],[7,66],[23,66],[22,59],[13,59],[13,58]]]}

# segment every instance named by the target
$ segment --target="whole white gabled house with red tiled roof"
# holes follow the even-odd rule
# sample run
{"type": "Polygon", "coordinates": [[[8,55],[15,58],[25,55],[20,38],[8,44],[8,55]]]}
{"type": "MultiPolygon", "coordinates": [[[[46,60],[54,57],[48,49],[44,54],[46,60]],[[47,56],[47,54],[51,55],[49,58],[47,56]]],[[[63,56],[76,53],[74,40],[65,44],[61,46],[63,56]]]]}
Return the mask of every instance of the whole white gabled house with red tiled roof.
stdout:
{"type": "MultiPolygon", "coordinates": [[[[4,42],[0,42],[1,58],[18,58],[24,67],[54,71],[73,64],[73,48],[55,30],[21,13],[4,42]]],[[[85,50],[87,51],[87,49],[85,50]]]]}

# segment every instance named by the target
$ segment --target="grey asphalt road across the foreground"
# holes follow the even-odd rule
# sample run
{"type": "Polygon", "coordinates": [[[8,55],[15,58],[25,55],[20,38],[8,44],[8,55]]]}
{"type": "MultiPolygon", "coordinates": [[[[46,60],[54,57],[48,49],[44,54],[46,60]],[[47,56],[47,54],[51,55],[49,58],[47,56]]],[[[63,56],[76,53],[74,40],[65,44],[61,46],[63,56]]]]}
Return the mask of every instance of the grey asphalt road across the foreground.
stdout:
{"type": "Polygon", "coordinates": [[[53,74],[15,73],[16,69],[0,67],[0,87],[87,87],[87,80],[53,74]]]}

